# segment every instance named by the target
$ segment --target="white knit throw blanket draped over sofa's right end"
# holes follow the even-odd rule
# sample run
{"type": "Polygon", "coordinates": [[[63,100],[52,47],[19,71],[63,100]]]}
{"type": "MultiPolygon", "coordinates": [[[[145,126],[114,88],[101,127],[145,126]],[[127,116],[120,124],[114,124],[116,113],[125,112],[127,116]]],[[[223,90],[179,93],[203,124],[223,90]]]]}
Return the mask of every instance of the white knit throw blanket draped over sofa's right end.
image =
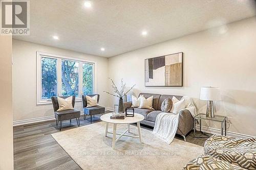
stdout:
{"type": "MultiPolygon", "coordinates": [[[[185,109],[188,110],[193,117],[195,117],[195,115],[197,114],[197,110],[193,101],[188,96],[183,96],[183,98],[185,98],[185,109]]],[[[165,141],[167,144],[172,143],[178,129],[180,111],[176,113],[159,113],[156,118],[156,124],[153,130],[153,134],[156,137],[165,141]]]]}

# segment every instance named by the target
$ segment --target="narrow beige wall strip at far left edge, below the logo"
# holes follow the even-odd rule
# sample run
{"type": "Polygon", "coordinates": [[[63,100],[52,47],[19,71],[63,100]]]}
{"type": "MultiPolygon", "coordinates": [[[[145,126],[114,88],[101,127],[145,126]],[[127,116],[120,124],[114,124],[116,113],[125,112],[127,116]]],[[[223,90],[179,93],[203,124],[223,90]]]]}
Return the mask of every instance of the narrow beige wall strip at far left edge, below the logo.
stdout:
{"type": "Polygon", "coordinates": [[[0,169],[13,169],[12,36],[0,36],[0,169]]]}

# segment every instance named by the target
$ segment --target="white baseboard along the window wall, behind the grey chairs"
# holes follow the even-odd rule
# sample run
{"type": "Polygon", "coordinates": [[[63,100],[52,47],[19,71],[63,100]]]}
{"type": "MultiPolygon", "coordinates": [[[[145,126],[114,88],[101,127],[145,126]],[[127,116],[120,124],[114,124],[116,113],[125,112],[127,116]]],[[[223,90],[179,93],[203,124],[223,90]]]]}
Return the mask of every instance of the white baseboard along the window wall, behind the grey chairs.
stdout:
{"type": "MultiPolygon", "coordinates": [[[[114,108],[106,107],[105,110],[106,111],[114,111],[114,108]]],[[[83,111],[81,111],[81,115],[83,115],[83,111]]],[[[30,119],[24,119],[24,120],[16,120],[16,121],[13,121],[13,126],[34,124],[34,123],[45,122],[45,121],[49,121],[49,120],[55,120],[54,115],[45,116],[45,117],[36,117],[36,118],[30,118],[30,119]]]]}

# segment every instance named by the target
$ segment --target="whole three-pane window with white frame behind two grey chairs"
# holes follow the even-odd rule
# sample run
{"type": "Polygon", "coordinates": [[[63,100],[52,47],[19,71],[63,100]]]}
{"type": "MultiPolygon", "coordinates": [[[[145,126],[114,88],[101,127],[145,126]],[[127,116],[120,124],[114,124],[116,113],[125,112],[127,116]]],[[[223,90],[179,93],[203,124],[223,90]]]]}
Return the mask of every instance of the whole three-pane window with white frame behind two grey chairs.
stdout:
{"type": "Polygon", "coordinates": [[[51,104],[52,96],[96,92],[96,62],[37,52],[37,104],[51,104]]]}

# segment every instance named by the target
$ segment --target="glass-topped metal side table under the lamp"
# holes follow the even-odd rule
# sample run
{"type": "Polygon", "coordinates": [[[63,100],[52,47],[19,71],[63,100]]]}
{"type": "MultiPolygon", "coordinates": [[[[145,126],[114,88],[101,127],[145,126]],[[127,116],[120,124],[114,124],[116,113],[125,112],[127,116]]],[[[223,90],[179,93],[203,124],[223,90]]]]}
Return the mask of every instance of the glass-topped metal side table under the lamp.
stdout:
{"type": "Polygon", "coordinates": [[[194,138],[209,137],[209,136],[196,136],[196,120],[197,119],[199,119],[200,132],[202,130],[201,120],[204,119],[204,120],[210,120],[213,122],[220,122],[221,123],[221,135],[223,135],[223,133],[224,133],[224,126],[225,126],[225,136],[227,135],[227,117],[215,115],[215,117],[209,118],[209,117],[206,117],[206,114],[200,113],[194,117],[194,134],[193,134],[194,138]]]}

